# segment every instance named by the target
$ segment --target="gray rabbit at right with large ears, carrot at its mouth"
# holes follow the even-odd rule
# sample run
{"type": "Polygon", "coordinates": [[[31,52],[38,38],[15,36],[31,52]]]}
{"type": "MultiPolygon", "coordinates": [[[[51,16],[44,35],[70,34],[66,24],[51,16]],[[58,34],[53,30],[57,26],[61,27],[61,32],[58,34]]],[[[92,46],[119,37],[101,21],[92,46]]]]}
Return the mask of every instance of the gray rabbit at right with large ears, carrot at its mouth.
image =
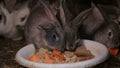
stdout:
{"type": "Polygon", "coordinates": [[[78,34],[81,39],[94,40],[110,48],[120,45],[119,26],[103,9],[93,4],[91,8],[75,17],[73,25],[79,25],[78,34]]]}

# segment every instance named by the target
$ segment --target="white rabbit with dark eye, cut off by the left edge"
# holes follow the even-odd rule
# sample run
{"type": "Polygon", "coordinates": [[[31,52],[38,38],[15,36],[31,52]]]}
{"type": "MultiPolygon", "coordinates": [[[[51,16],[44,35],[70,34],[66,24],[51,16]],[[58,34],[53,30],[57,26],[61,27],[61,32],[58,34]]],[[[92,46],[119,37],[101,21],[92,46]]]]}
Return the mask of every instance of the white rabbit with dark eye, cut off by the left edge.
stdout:
{"type": "Polygon", "coordinates": [[[13,29],[13,14],[9,13],[6,8],[4,8],[4,5],[0,4],[0,10],[1,10],[1,23],[0,23],[0,35],[4,36],[11,36],[11,33],[15,29],[13,29]],[[12,29],[12,30],[11,30],[12,29]]]}

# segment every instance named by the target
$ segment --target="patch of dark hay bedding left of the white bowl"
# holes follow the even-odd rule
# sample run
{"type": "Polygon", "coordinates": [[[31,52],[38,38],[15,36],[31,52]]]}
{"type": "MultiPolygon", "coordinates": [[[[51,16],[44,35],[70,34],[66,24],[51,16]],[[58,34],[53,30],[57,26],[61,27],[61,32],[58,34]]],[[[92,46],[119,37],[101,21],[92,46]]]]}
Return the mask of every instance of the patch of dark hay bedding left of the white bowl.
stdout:
{"type": "Polygon", "coordinates": [[[25,68],[14,60],[16,52],[24,45],[24,40],[0,39],[0,68],[25,68]]]}

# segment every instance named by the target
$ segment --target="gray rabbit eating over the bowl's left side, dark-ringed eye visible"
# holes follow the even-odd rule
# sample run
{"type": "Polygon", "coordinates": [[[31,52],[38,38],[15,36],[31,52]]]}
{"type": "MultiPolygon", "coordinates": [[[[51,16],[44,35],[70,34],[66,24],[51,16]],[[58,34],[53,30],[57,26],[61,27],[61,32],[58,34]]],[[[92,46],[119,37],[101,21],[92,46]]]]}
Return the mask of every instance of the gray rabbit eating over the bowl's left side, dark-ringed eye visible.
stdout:
{"type": "Polygon", "coordinates": [[[38,0],[35,5],[30,6],[32,8],[25,25],[27,43],[33,43],[36,51],[41,47],[64,51],[65,32],[50,6],[42,0],[38,0]]]}

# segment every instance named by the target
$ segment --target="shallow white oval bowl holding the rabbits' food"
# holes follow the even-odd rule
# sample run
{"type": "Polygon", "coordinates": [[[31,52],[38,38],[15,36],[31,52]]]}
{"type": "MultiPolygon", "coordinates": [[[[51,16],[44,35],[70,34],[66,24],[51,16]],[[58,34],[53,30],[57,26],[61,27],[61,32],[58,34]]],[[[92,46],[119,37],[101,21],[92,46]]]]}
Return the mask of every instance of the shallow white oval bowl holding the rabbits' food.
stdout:
{"type": "Polygon", "coordinates": [[[45,64],[31,62],[27,60],[27,58],[35,53],[35,48],[33,44],[28,44],[17,52],[15,60],[20,65],[30,68],[86,68],[100,64],[108,58],[108,49],[103,44],[90,40],[81,40],[80,43],[84,44],[86,48],[91,51],[91,53],[95,56],[93,59],[65,64],[45,64]]]}

